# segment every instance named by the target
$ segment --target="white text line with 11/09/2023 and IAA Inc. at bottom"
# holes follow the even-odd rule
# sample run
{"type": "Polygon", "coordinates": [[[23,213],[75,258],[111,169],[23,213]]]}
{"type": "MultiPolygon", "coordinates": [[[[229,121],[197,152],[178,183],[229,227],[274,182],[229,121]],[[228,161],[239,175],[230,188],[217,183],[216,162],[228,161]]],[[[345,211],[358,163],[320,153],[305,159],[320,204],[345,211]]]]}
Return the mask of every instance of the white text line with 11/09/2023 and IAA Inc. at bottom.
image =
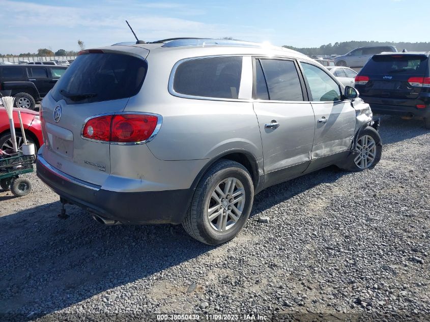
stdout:
{"type": "Polygon", "coordinates": [[[202,320],[202,321],[266,321],[267,315],[260,314],[157,314],[157,321],[202,320]]]}

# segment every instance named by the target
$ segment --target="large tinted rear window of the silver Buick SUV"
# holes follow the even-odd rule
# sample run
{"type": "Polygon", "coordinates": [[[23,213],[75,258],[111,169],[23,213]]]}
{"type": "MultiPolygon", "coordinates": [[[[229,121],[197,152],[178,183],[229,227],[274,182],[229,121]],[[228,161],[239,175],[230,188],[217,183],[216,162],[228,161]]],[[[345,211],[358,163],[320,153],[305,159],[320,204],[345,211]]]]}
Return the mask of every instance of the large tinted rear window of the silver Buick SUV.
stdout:
{"type": "Polygon", "coordinates": [[[136,95],[147,71],[145,61],[125,54],[79,55],[53,87],[52,97],[68,104],[117,100],[136,95]]]}

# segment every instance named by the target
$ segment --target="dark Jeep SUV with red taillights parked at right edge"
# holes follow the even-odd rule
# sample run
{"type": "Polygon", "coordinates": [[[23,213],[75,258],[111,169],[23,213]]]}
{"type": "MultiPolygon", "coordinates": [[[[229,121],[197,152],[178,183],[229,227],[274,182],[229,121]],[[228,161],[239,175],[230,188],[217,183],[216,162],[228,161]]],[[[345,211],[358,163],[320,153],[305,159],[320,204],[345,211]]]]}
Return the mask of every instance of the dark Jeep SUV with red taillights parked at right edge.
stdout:
{"type": "Polygon", "coordinates": [[[430,129],[429,52],[373,56],[355,78],[360,98],[372,111],[424,118],[430,129]]]}

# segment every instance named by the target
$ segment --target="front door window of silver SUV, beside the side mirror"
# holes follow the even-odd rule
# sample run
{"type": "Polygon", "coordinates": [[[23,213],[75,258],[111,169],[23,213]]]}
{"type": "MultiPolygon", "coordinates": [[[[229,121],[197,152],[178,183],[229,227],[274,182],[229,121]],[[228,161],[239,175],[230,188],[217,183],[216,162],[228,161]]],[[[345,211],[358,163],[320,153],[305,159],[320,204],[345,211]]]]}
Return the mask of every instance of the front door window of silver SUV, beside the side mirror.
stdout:
{"type": "Polygon", "coordinates": [[[339,85],[321,68],[301,63],[312,94],[312,101],[340,101],[339,85]]]}

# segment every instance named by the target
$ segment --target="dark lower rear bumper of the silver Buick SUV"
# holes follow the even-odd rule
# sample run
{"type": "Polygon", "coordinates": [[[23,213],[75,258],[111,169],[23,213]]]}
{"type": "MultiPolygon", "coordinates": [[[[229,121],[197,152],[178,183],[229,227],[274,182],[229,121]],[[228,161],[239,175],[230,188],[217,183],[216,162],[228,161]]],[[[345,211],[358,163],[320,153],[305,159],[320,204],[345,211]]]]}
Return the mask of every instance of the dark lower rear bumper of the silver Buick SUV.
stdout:
{"type": "Polygon", "coordinates": [[[123,224],[180,224],[193,189],[116,192],[70,177],[52,167],[42,155],[36,161],[37,176],[70,203],[123,224]]]}

